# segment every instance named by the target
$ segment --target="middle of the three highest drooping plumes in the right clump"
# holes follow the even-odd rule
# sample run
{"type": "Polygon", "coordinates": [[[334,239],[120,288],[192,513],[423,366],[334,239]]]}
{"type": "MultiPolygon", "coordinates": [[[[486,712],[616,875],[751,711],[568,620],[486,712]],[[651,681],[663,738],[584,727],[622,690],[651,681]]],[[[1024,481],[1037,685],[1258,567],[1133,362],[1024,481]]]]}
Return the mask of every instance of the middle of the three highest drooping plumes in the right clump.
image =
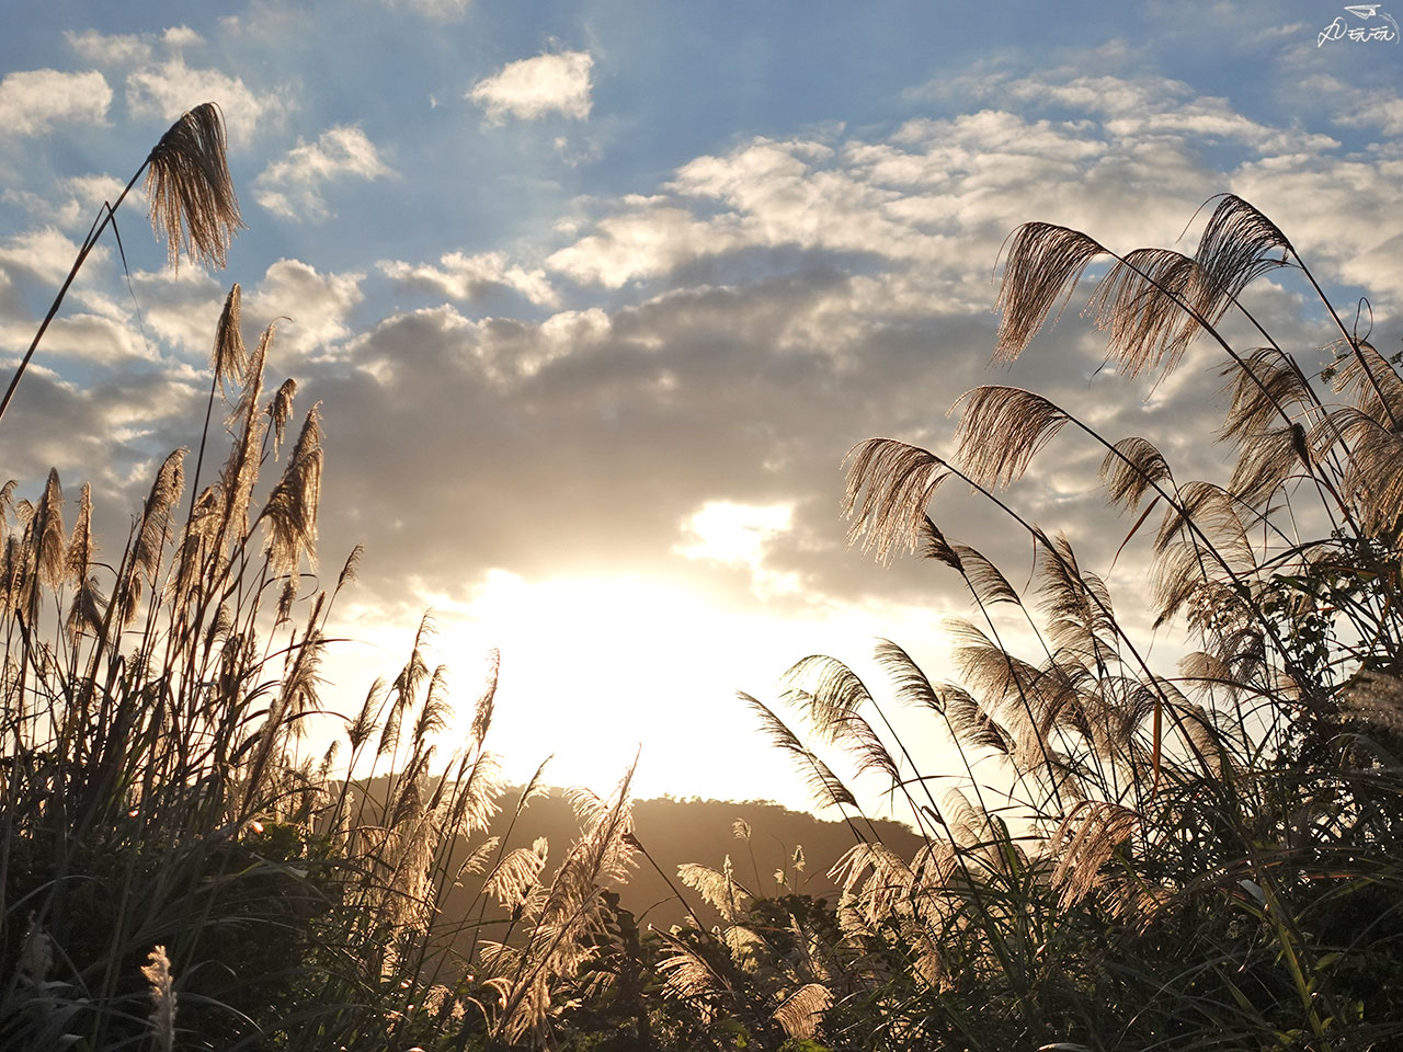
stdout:
{"type": "Polygon", "coordinates": [[[1179,365],[1200,328],[1184,311],[1198,264],[1172,248],[1135,248],[1096,286],[1087,310],[1107,332],[1107,356],[1127,376],[1179,365]]]}

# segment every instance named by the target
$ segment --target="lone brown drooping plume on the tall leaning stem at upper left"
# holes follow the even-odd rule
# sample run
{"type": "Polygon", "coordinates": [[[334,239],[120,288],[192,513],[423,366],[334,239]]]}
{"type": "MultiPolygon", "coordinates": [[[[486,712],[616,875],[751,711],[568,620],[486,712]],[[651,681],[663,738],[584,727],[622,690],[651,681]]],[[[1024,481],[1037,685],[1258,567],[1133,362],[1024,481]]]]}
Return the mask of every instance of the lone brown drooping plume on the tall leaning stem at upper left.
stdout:
{"type": "Polygon", "coordinates": [[[205,102],[170,126],[146,159],[152,230],[166,238],[173,268],[180,254],[223,269],[229,245],[244,226],[229,175],[229,146],[219,107],[205,102]]]}

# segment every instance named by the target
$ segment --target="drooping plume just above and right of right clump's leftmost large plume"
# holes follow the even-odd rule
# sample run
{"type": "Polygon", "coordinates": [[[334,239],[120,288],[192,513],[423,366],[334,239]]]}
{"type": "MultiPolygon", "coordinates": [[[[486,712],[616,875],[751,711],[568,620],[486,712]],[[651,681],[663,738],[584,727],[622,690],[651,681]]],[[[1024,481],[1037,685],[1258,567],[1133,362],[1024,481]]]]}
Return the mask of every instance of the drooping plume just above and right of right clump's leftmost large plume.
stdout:
{"type": "Polygon", "coordinates": [[[960,461],[974,481],[991,487],[1009,487],[1021,478],[1037,452],[1070,419],[1041,394],[1021,387],[975,387],[960,401],[965,403],[957,429],[960,461]]]}

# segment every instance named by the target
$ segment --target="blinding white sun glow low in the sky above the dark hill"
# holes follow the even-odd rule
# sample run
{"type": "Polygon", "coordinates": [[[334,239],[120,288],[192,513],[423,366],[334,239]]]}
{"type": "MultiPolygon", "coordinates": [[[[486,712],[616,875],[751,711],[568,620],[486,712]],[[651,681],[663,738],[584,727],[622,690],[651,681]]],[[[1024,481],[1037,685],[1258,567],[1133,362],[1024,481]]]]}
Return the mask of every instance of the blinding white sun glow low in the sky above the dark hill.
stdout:
{"type": "MultiPolygon", "coordinates": [[[[783,516],[772,512],[770,522],[783,516]]],[[[766,798],[791,808],[808,807],[803,783],[756,732],[737,690],[773,701],[784,669],[808,654],[832,654],[880,686],[873,637],[930,644],[943,635],[939,612],[923,607],[821,603],[777,619],[763,603],[735,609],[682,581],[623,574],[529,581],[498,568],[469,600],[419,598],[438,627],[429,663],[448,663],[457,708],[445,749],[466,731],[484,655],[497,647],[501,679],[488,748],[513,781],[553,756],[547,781],[605,793],[638,755],[638,797],[766,798]]],[[[373,673],[393,672],[407,652],[403,624],[358,620],[352,635],[380,640],[373,673]]],[[[916,649],[937,654],[930,645],[916,649]]],[[[370,665],[365,669],[369,676],[370,665]]]]}

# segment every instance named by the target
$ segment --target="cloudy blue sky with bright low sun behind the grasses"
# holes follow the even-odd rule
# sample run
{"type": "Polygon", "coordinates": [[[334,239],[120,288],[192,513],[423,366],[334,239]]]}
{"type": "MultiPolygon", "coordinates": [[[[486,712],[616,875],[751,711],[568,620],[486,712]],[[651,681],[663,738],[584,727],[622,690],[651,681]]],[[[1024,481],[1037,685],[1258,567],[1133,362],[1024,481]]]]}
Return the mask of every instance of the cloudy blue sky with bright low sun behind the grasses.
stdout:
{"type": "MultiPolygon", "coordinates": [[[[1019,223],[1191,251],[1200,206],[1233,192],[1337,303],[1368,297],[1376,346],[1400,335],[1388,4],[20,8],[0,36],[0,366],[102,201],[201,102],[223,109],[247,229],[226,271],[173,272],[129,199],[122,252],[104,240],[0,422],[0,474],[31,497],[51,466],[70,497],[90,481],[125,536],[166,453],[198,442],[239,282],[250,338],[278,320],[274,377],[323,404],[323,574],[365,546],[324,697],[354,708],[432,609],[466,710],[501,649],[492,745],[518,778],[553,755],[553,780],[605,790],[641,746],[640,795],[803,804],[735,692],[773,700],[815,652],[880,680],[881,637],[950,675],[957,582],[849,546],[842,464],[875,435],[948,450],[979,383],[1219,468],[1208,346],[1115,376],[1079,300],[991,372],[1019,223]]],[[[1324,363],[1306,292],[1251,295],[1324,363]]],[[[1010,501],[1065,529],[1134,620],[1145,564],[1113,564],[1127,525],[1099,460],[1059,439],[1010,501]]],[[[941,501],[948,534],[1026,567],[986,508],[941,501]]]]}

